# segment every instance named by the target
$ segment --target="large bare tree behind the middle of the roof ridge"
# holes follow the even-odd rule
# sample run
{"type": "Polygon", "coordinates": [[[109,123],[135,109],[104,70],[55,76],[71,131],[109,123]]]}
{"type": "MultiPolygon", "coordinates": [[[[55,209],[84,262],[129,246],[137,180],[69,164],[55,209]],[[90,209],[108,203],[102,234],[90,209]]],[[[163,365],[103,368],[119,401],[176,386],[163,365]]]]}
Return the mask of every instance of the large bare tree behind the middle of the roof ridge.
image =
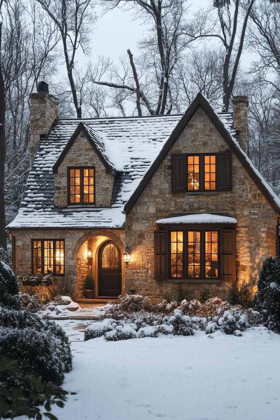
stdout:
{"type": "Polygon", "coordinates": [[[151,115],[170,113],[173,108],[171,80],[189,43],[185,31],[186,1],[105,0],[103,4],[108,9],[122,4],[135,13],[135,18],[140,16],[152,27],[148,36],[139,42],[139,57],[134,59],[128,49],[127,61],[122,60],[120,69],[105,63],[102,58],[91,72],[93,83],[125,89],[131,98],[134,97],[138,115],[142,115],[143,108],[151,115]]]}

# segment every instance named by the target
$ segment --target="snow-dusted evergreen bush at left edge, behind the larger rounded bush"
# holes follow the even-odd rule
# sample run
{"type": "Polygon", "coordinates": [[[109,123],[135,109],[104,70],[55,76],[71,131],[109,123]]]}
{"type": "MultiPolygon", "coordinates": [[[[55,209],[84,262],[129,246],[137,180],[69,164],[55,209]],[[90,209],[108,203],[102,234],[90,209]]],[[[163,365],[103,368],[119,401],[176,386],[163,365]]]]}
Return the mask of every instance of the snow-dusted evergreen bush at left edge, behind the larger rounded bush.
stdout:
{"type": "Polygon", "coordinates": [[[18,296],[19,284],[12,269],[0,262],[0,305],[19,309],[21,301],[18,296]]]}

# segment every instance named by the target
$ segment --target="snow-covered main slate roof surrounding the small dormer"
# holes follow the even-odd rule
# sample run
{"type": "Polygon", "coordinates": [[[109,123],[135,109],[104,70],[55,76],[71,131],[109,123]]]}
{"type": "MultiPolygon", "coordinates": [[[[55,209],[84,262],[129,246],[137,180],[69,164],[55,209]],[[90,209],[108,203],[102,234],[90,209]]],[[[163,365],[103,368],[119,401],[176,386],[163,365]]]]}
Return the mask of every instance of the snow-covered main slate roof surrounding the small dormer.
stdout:
{"type": "MultiPolygon", "coordinates": [[[[225,128],[235,135],[232,113],[218,113],[225,128]]],[[[122,227],[124,204],[167,142],[182,115],[131,118],[58,119],[41,138],[18,215],[8,228],[122,227]],[[67,208],[54,205],[53,165],[69,139],[83,123],[99,152],[116,171],[109,208],[67,208]]]]}

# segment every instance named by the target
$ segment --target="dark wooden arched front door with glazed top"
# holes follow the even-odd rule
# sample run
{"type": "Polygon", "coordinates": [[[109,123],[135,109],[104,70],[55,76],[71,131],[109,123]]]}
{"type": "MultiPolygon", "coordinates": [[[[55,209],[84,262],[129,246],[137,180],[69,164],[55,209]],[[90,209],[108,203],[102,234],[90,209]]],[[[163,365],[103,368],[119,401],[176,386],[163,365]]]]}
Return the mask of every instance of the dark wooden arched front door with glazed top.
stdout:
{"type": "Polygon", "coordinates": [[[100,247],[98,267],[99,296],[119,296],[121,294],[121,255],[114,242],[105,242],[100,247]]]}

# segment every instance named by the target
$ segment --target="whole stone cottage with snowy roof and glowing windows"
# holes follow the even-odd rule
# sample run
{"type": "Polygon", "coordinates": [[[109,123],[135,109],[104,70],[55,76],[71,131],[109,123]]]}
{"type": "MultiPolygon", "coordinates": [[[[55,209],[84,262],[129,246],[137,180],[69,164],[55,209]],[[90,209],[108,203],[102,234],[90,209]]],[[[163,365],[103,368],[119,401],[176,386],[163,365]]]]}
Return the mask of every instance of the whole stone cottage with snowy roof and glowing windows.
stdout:
{"type": "Polygon", "coordinates": [[[8,225],[13,270],[63,277],[81,297],[127,291],[158,300],[202,287],[255,288],[278,252],[280,199],[248,153],[245,96],[217,113],[200,93],[184,115],[58,119],[58,99],[30,95],[30,173],[8,225]]]}

